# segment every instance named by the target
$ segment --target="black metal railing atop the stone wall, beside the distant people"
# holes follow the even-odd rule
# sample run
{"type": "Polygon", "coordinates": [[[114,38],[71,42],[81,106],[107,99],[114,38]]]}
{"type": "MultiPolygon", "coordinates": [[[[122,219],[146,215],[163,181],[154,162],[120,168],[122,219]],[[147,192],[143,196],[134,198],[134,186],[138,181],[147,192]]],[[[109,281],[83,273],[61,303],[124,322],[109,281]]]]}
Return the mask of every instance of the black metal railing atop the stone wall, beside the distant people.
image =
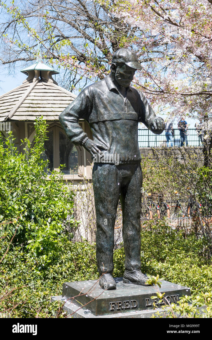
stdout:
{"type": "MultiPolygon", "coordinates": [[[[197,135],[196,129],[188,129],[186,131],[186,137],[180,135],[178,129],[174,129],[173,147],[187,146],[198,147],[202,146],[201,137],[197,135]]],[[[161,135],[155,135],[148,129],[138,129],[138,145],[140,148],[154,148],[154,147],[166,147],[167,140],[165,131],[161,135]]],[[[169,140],[169,146],[171,141],[169,140]]]]}

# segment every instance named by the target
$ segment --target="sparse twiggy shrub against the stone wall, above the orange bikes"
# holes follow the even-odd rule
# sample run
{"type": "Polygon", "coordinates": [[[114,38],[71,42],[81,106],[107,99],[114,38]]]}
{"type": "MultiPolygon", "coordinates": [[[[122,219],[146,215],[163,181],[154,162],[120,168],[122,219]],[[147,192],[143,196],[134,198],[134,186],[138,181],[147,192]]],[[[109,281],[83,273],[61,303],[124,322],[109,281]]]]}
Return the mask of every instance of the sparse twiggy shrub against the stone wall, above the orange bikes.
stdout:
{"type": "MultiPolygon", "coordinates": [[[[191,232],[195,233],[197,239],[202,236],[207,239],[205,256],[210,258],[212,256],[211,168],[203,166],[203,159],[195,151],[190,150],[190,153],[186,153],[183,149],[178,155],[173,152],[173,149],[161,150],[161,152],[154,150],[154,156],[142,158],[142,166],[144,190],[153,193],[156,197],[160,194],[163,201],[167,203],[176,204],[177,200],[180,200],[182,205],[180,216],[184,215],[189,219],[191,217],[189,220],[191,232]]],[[[174,207],[170,209],[171,215],[173,211],[174,207]]],[[[190,226],[184,228],[184,232],[190,233],[190,226]]]]}

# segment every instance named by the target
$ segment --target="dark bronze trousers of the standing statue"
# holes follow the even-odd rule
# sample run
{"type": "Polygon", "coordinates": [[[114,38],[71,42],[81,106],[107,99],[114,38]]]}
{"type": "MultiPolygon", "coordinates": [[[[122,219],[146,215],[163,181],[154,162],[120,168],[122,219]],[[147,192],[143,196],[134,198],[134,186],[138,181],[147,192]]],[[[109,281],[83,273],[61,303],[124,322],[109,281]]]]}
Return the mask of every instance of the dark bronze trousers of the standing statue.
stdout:
{"type": "Polygon", "coordinates": [[[142,170],[136,164],[102,164],[93,167],[96,208],[96,258],[98,272],[112,274],[114,225],[120,199],[123,215],[125,269],[141,268],[142,170]]]}

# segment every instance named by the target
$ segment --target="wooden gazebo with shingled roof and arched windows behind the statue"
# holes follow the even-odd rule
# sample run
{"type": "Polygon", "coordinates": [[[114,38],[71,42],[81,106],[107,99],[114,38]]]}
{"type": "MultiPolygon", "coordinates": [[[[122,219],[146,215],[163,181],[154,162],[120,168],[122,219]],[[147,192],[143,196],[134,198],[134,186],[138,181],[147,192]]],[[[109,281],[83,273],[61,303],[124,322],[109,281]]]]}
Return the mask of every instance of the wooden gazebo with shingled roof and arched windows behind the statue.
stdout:
{"type": "MultiPolygon", "coordinates": [[[[58,169],[60,164],[65,164],[64,180],[74,179],[76,184],[82,176],[90,180],[91,155],[84,148],[70,142],[58,120],[60,113],[76,96],[58,86],[52,75],[59,72],[38,59],[21,72],[27,75],[27,79],[0,97],[0,122],[10,122],[18,152],[23,151],[21,139],[28,138],[33,146],[33,123],[35,117],[43,116],[48,124],[48,140],[45,141],[45,152],[42,155],[49,160],[46,171],[50,173],[58,169]]],[[[82,120],[79,124],[88,137],[93,139],[87,122],[82,120]]]]}

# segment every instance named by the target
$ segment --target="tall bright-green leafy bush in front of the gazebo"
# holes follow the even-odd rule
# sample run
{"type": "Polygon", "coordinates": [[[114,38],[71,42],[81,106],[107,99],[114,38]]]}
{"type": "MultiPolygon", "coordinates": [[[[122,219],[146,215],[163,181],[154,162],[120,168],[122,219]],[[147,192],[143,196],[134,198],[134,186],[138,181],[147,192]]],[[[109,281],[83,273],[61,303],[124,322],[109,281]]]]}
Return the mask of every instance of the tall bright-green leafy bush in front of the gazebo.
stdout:
{"type": "Polygon", "coordinates": [[[62,172],[53,172],[47,180],[47,161],[41,158],[45,122],[36,120],[35,130],[35,144],[30,149],[25,139],[23,154],[14,147],[12,133],[6,142],[0,140],[0,232],[11,238],[17,229],[13,242],[47,259],[64,231],[78,222],[67,219],[73,214],[73,193],[64,185],[62,172]]]}

